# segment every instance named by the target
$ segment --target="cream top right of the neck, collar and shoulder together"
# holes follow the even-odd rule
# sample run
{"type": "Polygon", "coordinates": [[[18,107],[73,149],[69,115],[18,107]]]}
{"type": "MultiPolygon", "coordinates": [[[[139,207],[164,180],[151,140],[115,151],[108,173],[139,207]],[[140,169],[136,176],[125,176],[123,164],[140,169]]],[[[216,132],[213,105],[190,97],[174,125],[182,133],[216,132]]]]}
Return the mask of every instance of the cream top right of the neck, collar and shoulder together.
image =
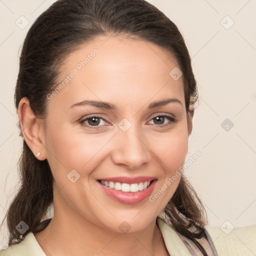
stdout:
{"type": "MultiPolygon", "coordinates": [[[[161,215],[158,215],[157,223],[168,251],[172,252],[170,255],[181,255],[181,252],[183,253],[182,255],[193,254],[191,251],[195,248],[190,240],[174,231],[163,221],[161,215]]],[[[209,253],[207,250],[209,255],[216,255],[216,253],[218,256],[256,255],[256,224],[235,228],[220,228],[206,225],[204,230],[207,239],[198,240],[198,242],[206,250],[209,250],[209,253]],[[208,243],[210,246],[208,246],[208,243]],[[210,247],[212,247],[213,251],[210,251],[210,247]]]]}

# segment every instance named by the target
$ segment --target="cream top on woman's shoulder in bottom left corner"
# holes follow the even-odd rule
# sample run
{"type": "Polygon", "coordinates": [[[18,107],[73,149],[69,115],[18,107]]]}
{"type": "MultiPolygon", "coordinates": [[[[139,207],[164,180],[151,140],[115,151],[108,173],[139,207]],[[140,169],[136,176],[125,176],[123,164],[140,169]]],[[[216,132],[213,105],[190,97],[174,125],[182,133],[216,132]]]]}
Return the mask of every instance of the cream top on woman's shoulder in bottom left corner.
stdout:
{"type": "Polygon", "coordinates": [[[29,232],[24,240],[18,244],[10,245],[5,250],[0,250],[0,256],[45,256],[39,243],[32,232],[29,232]]]}

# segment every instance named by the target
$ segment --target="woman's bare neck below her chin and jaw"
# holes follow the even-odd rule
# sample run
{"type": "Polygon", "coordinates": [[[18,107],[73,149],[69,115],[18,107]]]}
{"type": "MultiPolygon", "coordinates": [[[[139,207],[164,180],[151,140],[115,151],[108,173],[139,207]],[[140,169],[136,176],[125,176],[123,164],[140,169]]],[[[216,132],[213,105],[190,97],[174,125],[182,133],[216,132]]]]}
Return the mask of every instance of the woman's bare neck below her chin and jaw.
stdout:
{"type": "MultiPolygon", "coordinates": [[[[159,253],[165,248],[155,219],[137,232],[115,232],[84,218],[70,205],[65,208],[61,205],[53,203],[51,222],[44,230],[34,234],[46,256],[151,256],[158,255],[156,251],[159,253]]],[[[166,248],[164,250],[166,252],[166,248]]]]}

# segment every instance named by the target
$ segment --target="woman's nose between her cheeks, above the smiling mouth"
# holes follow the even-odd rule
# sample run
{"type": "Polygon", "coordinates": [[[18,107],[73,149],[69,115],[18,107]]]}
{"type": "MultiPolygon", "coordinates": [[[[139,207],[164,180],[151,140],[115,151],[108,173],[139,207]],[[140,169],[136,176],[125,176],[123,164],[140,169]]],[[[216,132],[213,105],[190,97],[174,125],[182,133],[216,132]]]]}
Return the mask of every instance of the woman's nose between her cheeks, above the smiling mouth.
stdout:
{"type": "Polygon", "coordinates": [[[111,153],[112,161],[115,164],[131,170],[141,168],[151,159],[151,150],[145,136],[134,131],[132,128],[127,131],[118,130],[115,136],[114,150],[111,153]]]}

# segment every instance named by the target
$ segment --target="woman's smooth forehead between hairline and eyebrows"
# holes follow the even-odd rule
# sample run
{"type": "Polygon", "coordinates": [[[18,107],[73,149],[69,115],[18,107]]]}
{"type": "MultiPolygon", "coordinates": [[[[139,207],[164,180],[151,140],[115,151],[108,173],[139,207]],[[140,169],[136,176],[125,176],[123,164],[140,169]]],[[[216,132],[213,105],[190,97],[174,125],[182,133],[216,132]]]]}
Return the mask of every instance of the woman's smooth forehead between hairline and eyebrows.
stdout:
{"type": "Polygon", "coordinates": [[[174,57],[154,43],[97,37],[68,54],[59,77],[63,88],[53,99],[69,105],[100,99],[130,107],[168,96],[184,101],[182,76],[174,80],[169,74],[176,67],[174,57]]]}

